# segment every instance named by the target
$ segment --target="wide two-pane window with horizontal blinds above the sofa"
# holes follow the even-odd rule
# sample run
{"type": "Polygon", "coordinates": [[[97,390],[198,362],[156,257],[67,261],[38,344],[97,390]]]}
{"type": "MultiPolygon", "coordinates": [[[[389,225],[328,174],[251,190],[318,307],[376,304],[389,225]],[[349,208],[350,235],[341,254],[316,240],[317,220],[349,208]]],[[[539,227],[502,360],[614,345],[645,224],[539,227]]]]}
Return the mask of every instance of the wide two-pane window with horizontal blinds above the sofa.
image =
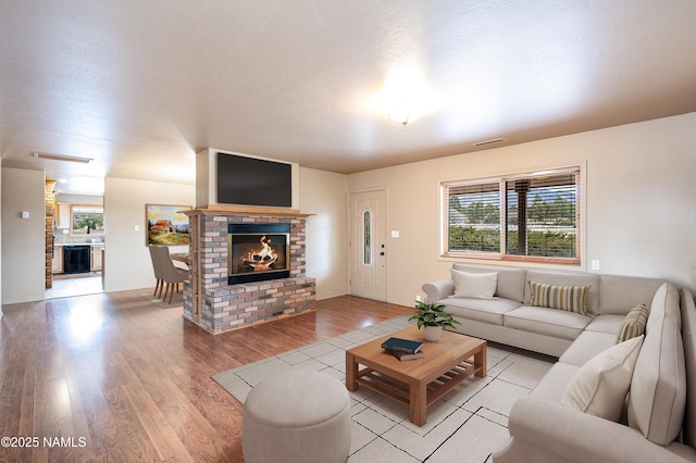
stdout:
{"type": "Polygon", "coordinates": [[[580,264],[580,167],[446,182],[443,255],[580,264]]]}

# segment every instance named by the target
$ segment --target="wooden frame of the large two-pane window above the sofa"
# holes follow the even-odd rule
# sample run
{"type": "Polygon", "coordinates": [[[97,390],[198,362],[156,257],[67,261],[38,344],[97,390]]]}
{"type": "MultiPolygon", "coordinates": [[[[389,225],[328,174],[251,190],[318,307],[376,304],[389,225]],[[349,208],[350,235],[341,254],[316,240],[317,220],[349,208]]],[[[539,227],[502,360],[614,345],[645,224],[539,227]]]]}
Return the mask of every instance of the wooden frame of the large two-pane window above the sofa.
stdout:
{"type": "Polygon", "coordinates": [[[584,226],[582,223],[583,214],[582,204],[585,201],[583,193],[583,166],[579,164],[569,165],[566,167],[552,167],[543,171],[533,171],[524,173],[514,173],[507,175],[499,175],[495,177],[481,177],[461,180],[444,180],[439,184],[439,198],[440,198],[440,258],[445,259],[481,259],[481,260],[497,260],[508,262],[525,262],[525,263],[543,263],[543,264],[556,264],[556,265],[582,265],[582,242],[584,226]],[[575,256],[560,258],[560,256],[546,256],[546,255],[521,255],[521,254],[508,254],[507,253],[507,211],[508,211],[508,195],[507,184],[508,182],[515,182],[521,179],[532,179],[542,176],[557,176],[557,175],[574,175],[575,176],[575,256]],[[498,252],[490,251],[471,251],[471,250],[450,250],[449,237],[450,237],[450,224],[449,224],[449,191],[456,187],[474,187],[476,185],[484,184],[498,184],[498,203],[500,210],[500,217],[498,222],[499,226],[499,239],[500,248],[498,252]]]}

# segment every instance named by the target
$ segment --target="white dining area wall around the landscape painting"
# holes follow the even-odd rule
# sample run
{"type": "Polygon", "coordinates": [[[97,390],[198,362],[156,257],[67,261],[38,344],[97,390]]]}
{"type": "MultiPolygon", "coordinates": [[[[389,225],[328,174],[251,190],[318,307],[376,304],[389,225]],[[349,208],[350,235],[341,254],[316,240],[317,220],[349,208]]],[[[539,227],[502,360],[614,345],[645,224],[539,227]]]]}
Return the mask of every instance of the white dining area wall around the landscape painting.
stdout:
{"type": "MultiPolygon", "coordinates": [[[[153,288],[154,273],[148,250],[146,204],[194,205],[194,185],[105,178],[104,291],[153,288]],[[136,232],[135,227],[138,227],[136,232]]],[[[173,246],[171,252],[188,252],[173,246]]]]}

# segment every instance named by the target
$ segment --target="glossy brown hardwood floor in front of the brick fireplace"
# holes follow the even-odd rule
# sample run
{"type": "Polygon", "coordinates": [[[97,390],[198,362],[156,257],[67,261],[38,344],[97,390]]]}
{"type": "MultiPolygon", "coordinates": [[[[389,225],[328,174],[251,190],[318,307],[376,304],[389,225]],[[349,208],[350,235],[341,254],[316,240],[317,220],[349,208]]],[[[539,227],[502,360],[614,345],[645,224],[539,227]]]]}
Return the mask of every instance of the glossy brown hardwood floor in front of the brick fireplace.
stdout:
{"type": "Polygon", "coordinates": [[[241,462],[243,406],[212,374],[412,313],[345,296],[212,336],[145,292],[3,306],[0,461],[241,462]]]}

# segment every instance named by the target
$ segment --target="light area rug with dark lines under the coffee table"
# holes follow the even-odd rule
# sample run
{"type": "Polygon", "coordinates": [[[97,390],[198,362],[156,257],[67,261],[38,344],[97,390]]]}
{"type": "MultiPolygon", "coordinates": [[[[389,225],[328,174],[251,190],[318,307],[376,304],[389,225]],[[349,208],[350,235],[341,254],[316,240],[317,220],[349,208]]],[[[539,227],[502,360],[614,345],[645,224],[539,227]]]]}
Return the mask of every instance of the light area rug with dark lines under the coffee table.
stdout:
{"type": "MultiPolygon", "coordinates": [[[[408,315],[370,325],[259,362],[213,375],[244,403],[253,386],[291,368],[310,368],[345,383],[346,349],[409,326],[408,315]]],[[[417,362],[417,361],[415,361],[417,362]]],[[[350,463],[488,462],[506,445],[508,416],[515,399],[546,375],[552,359],[488,345],[488,374],[470,377],[427,408],[427,423],[409,421],[406,405],[366,388],[350,392],[350,463]]]]}

